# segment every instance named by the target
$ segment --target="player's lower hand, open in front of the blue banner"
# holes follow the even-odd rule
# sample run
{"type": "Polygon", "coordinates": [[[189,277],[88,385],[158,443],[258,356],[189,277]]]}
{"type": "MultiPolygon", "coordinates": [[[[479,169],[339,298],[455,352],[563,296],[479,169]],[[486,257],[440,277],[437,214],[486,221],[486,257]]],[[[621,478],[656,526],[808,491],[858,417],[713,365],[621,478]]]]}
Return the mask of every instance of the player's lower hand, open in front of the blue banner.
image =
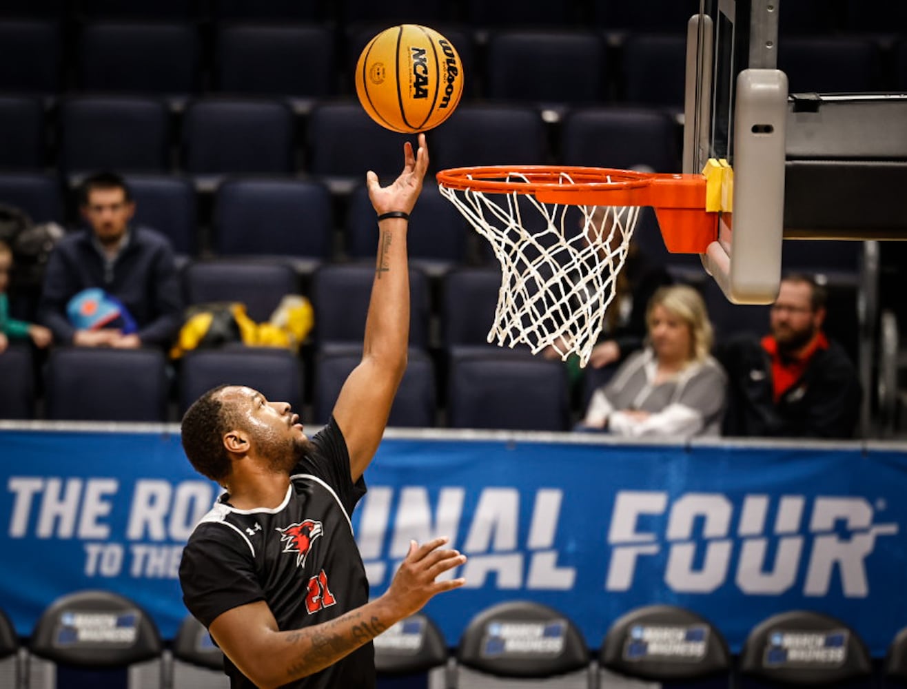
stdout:
{"type": "Polygon", "coordinates": [[[399,619],[418,612],[436,594],[462,587],[466,583],[463,577],[435,581],[444,572],[459,567],[466,561],[466,556],[458,550],[441,548],[447,541],[446,538],[434,539],[421,546],[415,541],[410,542],[403,564],[382,596],[387,604],[394,607],[399,619]]]}

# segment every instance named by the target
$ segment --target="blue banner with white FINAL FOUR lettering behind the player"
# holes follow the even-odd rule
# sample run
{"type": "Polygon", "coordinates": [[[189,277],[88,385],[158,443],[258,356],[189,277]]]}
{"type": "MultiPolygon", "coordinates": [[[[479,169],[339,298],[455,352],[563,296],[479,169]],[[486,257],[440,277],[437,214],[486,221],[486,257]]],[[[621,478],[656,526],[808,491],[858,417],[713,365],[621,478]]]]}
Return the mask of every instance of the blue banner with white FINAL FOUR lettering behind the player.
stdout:
{"type": "MultiPolygon", "coordinates": [[[[714,444],[385,439],[354,516],[374,595],[410,539],[446,535],[463,589],[425,608],[456,645],[502,600],[560,609],[598,647],[669,603],[739,650],[775,612],[841,618],[883,655],[907,626],[907,452],[714,444]]],[[[492,437],[492,436],[488,436],[492,437]]],[[[0,431],[0,607],[30,634],[55,597],[103,588],[164,636],[186,615],[180,549],[218,488],[171,433],[0,431]]]]}

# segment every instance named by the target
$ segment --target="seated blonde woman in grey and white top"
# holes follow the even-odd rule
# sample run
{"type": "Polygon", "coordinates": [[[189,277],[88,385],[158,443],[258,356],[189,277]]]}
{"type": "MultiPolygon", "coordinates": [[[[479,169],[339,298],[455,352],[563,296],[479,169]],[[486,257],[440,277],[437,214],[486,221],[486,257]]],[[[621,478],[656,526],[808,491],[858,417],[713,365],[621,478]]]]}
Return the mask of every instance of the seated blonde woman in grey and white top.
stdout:
{"type": "Polygon", "coordinates": [[[592,394],[578,430],[616,435],[718,435],[727,378],[709,354],[712,325],[690,286],[661,287],[646,311],[648,345],[592,394]]]}

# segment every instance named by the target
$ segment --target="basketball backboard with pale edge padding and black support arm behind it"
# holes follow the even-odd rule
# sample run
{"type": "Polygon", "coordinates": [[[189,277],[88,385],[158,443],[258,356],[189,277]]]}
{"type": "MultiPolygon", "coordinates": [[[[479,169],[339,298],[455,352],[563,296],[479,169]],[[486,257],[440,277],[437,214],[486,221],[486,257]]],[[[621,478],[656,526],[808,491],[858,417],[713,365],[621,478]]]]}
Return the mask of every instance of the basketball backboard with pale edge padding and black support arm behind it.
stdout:
{"type": "Polygon", "coordinates": [[[789,93],[779,27],[797,1],[699,0],[688,23],[683,171],[727,161],[702,261],[740,304],[774,300],[783,239],[907,238],[907,95],[789,93]]]}

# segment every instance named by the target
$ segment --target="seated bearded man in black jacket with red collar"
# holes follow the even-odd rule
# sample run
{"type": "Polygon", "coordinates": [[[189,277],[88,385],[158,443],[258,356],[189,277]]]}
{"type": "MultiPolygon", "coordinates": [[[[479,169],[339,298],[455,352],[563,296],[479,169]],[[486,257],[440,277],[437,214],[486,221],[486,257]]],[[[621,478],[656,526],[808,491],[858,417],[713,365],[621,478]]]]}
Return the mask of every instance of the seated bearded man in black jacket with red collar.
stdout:
{"type": "Polygon", "coordinates": [[[785,277],[771,335],[719,349],[730,393],[726,435],[853,437],[860,383],[844,349],[824,335],[825,298],[812,277],[785,277]]]}

